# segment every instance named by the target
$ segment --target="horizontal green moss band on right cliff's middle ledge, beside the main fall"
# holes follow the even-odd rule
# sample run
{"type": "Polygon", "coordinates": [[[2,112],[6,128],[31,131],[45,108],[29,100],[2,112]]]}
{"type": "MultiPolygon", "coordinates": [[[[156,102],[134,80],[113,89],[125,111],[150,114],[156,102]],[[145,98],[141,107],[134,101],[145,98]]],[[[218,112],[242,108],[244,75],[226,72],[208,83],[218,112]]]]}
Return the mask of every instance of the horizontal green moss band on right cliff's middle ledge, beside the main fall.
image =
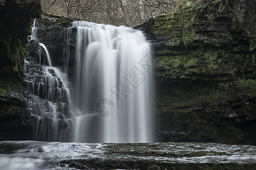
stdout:
{"type": "Polygon", "coordinates": [[[199,75],[217,74],[223,63],[226,65],[234,60],[233,55],[226,53],[225,50],[205,48],[188,52],[188,54],[182,54],[167,49],[161,50],[160,54],[163,56],[154,61],[158,76],[163,80],[168,78],[204,79],[204,76],[199,75]]]}

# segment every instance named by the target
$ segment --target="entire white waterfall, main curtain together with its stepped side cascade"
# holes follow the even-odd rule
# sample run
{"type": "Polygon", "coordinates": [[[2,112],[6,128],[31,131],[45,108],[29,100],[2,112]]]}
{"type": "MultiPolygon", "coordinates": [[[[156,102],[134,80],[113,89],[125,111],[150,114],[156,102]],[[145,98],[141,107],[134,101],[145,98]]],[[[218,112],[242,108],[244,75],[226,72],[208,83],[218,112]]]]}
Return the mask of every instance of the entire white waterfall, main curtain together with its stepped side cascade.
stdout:
{"type": "Polygon", "coordinates": [[[141,31],[73,22],[63,35],[63,66],[56,67],[49,44],[36,37],[39,29],[34,22],[30,44],[38,52],[26,61],[24,78],[40,99],[36,140],[153,141],[152,56],[141,31]]]}

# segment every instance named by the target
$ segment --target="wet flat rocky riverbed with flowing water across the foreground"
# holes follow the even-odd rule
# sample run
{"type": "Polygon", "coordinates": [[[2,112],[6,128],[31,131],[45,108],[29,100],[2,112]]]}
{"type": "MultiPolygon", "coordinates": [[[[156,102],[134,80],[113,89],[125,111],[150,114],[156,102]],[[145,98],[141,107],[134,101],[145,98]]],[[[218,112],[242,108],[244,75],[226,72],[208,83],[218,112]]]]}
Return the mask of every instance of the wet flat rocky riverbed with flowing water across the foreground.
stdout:
{"type": "Polygon", "coordinates": [[[193,142],[6,141],[0,142],[0,168],[255,169],[255,151],[255,146],[193,142]]]}

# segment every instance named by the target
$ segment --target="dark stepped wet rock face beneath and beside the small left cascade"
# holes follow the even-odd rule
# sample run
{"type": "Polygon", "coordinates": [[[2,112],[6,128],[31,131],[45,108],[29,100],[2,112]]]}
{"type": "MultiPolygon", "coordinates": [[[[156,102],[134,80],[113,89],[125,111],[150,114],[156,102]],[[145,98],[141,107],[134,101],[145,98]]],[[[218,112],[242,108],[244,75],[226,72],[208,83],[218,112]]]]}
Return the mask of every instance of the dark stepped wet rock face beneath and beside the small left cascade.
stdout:
{"type": "MultiPolygon", "coordinates": [[[[67,71],[66,63],[69,61],[64,56],[68,56],[66,53],[69,49],[75,49],[75,39],[68,37],[72,35],[73,29],[70,29],[70,34],[67,33],[71,20],[36,19],[34,24],[32,36],[28,37],[30,40],[27,44],[28,55],[23,76],[28,109],[38,117],[33,139],[67,141],[65,135],[57,135],[67,131],[68,123],[64,117],[69,117],[69,105],[67,87],[63,83],[60,70],[55,66],[62,72],[67,71]],[[54,68],[48,67],[46,50],[39,42],[47,47],[54,68]]],[[[72,59],[71,54],[70,61],[72,59]]]]}

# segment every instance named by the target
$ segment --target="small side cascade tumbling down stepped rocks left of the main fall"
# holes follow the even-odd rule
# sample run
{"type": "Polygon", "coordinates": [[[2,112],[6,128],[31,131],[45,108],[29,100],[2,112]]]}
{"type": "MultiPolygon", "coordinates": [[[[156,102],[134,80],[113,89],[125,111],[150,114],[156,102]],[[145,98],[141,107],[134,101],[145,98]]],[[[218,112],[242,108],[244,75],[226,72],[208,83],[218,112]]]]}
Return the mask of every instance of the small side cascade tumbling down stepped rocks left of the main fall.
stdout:
{"type": "Polygon", "coordinates": [[[67,141],[68,123],[65,118],[69,117],[70,94],[67,74],[52,67],[46,45],[36,40],[35,21],[36,19],[32,35],[28,37],[28,45],[34,48],[28,48],[30,56],[26,57],[23,78],[28,96],[27,104],[31,112],[38,117],[38,123],[34,128],[34,140],[67,141]],[[34,52],[30,52],[30,49],[34,49],[34,52]],[[47,62],[43,61],[43,52],[46,53],[47,62]]]}

